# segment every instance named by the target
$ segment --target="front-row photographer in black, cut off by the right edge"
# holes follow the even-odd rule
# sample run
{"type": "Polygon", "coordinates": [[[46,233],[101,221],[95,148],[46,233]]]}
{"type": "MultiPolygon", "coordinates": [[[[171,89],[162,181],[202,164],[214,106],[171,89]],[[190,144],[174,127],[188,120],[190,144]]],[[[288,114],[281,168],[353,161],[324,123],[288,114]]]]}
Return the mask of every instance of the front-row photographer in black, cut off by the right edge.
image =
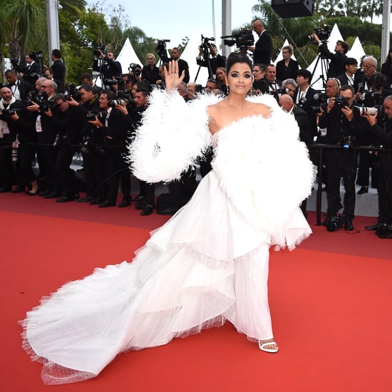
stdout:
{"type": "MultiPolygon", "coordinates": [[[[392,148],[392,96],[383,101],[383,115],[363,114],[370,126],[370,132],[376,136],[378,145],[392,148]]],[[[389,151],[378,151],[378,222],[366,229],[377,229],[380,235],[383,229],[392,234],[392,155],[389,151]],[[381,232],[379,231],[381,230],[381,232]]],[[[380,235],[381,237],[381,235],[380,235]]]]}

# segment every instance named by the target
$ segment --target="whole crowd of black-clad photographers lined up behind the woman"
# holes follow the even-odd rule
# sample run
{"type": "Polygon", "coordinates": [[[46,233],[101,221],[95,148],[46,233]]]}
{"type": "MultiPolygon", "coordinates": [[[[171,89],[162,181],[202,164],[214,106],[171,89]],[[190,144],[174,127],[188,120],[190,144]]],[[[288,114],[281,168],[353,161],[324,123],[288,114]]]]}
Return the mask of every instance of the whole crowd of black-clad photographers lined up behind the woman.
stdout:
{"type": "MultiPolygon", "coordinates": [[[[263,59],[263,63],[254,62],[254,83],[249,93],[272,94],[284,110],[295,116],[300,138],[309,146],[315,164],[319,153],[311,146],[324,145],[322,178],[327,199],[324,225],[329,231],[339,227],[354,229],[355,185],[361,186],[359,195],[368,192],[371,172],[371,186],[378,191],[379,215],[378,222],[367,228],[375,229],[381,237],[391,236],[392,158],[388,149],[392,148],[392,51],[381,67],[383,73],[378,73],[376,58],[364,56],[358,66],[355,58],[346,56],[347,43],[338,41],[331,53],[326,47],[330,31],[315,29],[309,40],[319,45],[320,56],[329,60],[325,89],[316,91],[311,87],[313,75],[299,69],[292,58],[292,46],[283,48],[283,59],[274,66],[269,34],[261,21],[254,21],[253,28],[260,37],[256,45],[253,46],[248,33],[232,36],[225,44],[235,43],[237,50],[253,52],[254,58],[263,59]],[[359,146],[368,149],[361,150],[359,146]]],[[[123,199],[118,207],[127,207],[135,201],[141,215],[150,215],[155,209],[155,187],[140,182],[138,195],[131,198],[130,170],[124,158],[127,143],[148,107],[150,91],[165,88],[163,68],[170,60],[177,61],[180,72],[185,73],[178,88],[185,100],[192,100],[202,91],[222,96],[229,93],[225,58],[220,56],[213,40],[202,36],[200,53],[195,59],[200,66],[207,67],[209,78],[205,86],[189,81],[188,65],[177,48],[172,49],[171,57],[167,56],[167,40],[158,43],[159,67],[155,55],[148,53],[146,65],[130,64],[128,73],[123,73],[113,53],[98,48],[93,69],[99,73],[103,88],[98,88],[88,73],[81,76],[79,87],[69,83],[62,90],[50,68],[42,67],[40,73],[34,71],[32,76],[31,66],[26,66],[24,72],[19,72],[16,66],[6,71],[9,84],[0,90],[0,192],[26,192],[55,198],[57,202],[78,200],[110,207],[116,205],[120,189],[123,199]],[[86,190],[83,198],[78,195],[80,178],[70,167],[76,152],[83,156],[86,190]],[[35,157],[38,182],[31,168],[35,157]],[[16,187],[12,189],[12,185],[16,187]]],[[[29,64],[29,55],[25,60],[29,64]]],[[[211,150],[200,161],[202,175],[211,169],[212,154],[211,150]]],[[[190,170],[182,180],[169,186],[168,194],[161,195],[163,213],[178,210],[195,187],[195,172],[190,170]]],[[[306,215],[306,200],[301,208],[306,215]]]]}

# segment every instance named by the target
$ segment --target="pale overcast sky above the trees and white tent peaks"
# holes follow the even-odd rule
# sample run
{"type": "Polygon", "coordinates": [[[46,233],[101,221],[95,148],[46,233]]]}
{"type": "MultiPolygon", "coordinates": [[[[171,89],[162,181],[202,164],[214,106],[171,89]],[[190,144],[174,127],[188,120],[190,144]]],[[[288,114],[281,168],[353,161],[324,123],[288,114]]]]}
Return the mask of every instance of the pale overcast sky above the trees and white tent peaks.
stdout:
{"type": "MultiPolygon", "coordinates": [[[[96,3],[88,0],[88,4],[96,3]]],[[[232,29],[252,22],[252,6],[257,4],[257,0],[232,0],[231,3],[232,29]]],[[[132,26],[142,29],[146,36],[170,39],[167,48],[182,43],[185,36],[197,36],[200,41],[201,35],[209,38],[222,36],[222,0],[100,0],[100,4],[103,7],[121,4],[132,26]]]]}

